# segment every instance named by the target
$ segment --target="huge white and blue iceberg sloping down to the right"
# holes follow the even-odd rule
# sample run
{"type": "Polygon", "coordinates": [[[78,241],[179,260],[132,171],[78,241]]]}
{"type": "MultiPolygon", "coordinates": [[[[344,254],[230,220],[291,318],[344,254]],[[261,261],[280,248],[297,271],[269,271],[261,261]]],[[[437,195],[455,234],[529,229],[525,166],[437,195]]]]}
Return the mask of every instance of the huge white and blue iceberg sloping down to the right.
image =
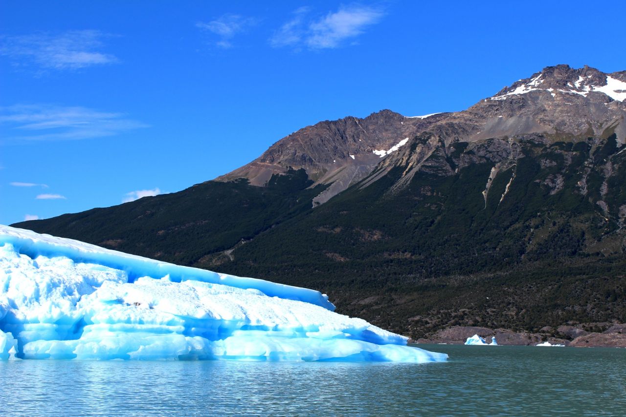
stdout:
{"type": "Polygon", "coordinates": [[[445,361],[312,289],[0,225],[0,360],[445,361]]]}

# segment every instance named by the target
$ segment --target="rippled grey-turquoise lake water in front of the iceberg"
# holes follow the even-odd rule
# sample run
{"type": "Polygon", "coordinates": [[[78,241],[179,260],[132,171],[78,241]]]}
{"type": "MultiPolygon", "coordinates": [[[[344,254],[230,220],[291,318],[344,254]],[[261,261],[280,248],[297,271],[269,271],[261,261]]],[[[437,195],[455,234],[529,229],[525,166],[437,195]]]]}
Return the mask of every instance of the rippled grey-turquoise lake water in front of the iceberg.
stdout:
{"type": "Polygon", "coordinates": [[[422,347],[450,360],[0,362],[0,413],[626,415],[626,349],[422,347]]]}

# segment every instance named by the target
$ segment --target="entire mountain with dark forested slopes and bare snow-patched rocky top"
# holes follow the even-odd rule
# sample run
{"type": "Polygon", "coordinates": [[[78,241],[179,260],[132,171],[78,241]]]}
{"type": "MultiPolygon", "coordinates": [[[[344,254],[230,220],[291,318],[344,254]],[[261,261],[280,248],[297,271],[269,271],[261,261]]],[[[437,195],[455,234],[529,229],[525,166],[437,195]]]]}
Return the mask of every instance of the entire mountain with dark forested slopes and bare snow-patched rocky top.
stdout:
{"type": "Polygon", "coordinates": [[[626,321],[626,71],[560,65],[457,113],[281,139],[180,193],[18,223],[329,294],[413,338],[626,321]]]}

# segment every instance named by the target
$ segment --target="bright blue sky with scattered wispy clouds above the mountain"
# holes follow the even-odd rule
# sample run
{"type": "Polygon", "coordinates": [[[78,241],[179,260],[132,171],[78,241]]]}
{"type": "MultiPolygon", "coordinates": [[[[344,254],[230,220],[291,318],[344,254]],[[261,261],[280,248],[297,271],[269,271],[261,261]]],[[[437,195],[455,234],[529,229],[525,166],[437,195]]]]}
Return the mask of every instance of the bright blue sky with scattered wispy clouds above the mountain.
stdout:
{"type": "Polygon", "coordinates": [[[0,223],[179,191],[309,124],[626,69],[626,2],[0,1],[0,223]]]}

